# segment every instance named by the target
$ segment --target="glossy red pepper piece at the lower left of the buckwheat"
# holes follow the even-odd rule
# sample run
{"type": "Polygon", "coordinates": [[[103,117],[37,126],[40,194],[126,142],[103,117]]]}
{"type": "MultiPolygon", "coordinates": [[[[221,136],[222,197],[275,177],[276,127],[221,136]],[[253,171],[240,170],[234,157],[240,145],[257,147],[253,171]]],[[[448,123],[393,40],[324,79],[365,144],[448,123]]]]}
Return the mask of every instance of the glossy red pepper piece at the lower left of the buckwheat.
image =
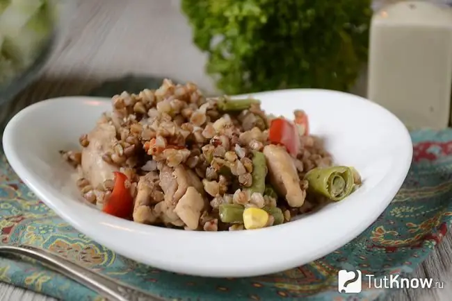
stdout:
{"type": "Polygon", "coordinates": [[[102,211],[119,218],[130,218],[134,211],[134,198],[125,185],[127,175],[118,171],[115,171],[114,174],[115,186],[111,195],[106,199],[102,211]]]}

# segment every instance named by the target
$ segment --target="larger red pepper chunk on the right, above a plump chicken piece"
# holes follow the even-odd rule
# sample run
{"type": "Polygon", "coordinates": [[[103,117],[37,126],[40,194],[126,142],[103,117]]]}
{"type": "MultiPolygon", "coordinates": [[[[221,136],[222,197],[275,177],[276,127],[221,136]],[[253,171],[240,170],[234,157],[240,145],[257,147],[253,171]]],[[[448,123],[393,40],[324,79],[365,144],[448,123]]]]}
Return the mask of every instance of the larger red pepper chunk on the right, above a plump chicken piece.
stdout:
{"type": "Polygon", "coordinates": [[[268,139],[272,144],[282,144],[289,154],[296,157],[300,148],[300,137],[296,126],[284,118],[272,119],[268,139]]]}

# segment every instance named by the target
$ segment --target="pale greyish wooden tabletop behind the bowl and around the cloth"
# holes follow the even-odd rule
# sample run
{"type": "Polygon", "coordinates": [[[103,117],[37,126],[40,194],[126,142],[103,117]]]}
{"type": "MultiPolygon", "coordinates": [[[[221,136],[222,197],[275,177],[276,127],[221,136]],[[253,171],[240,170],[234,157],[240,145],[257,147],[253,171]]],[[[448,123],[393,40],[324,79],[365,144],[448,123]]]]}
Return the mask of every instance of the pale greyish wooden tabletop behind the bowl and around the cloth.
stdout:
{"type": "MultiPolygon", "coordinates": [[[[65,20],[67,33],[44,74],[17,101],[0,110],[0,121],[28,103],[56,95],[85,94],[104,78],[131,73],[191,80],[206,92],[215,92],[213,82],[204,74],[206,57],[191,44],[191,29],[177,0],[72,0],[72,5],[65,20]]],[[[356,94],[365,91],[362,83],[365,76],[356,94]]],[[[449,232],[413,275],[442,281],[444,289],[400,289],[389,300],[452,300],[451,260],[449,232]]],[[[55,299],[0,283],[0,300],[55,299]]]]}

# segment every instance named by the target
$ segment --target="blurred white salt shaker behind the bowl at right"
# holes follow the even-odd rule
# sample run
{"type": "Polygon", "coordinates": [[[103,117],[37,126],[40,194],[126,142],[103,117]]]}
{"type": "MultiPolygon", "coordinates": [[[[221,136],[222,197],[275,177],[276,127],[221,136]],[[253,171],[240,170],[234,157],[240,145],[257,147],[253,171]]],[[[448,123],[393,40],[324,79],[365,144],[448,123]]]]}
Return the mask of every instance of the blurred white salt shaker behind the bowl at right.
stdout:
{"type": "Polygon", "coordinates": [[[372,18],[367,97],[409,127],[445,128],[451,119],[452,8],[444,1],[392,3],[372,18]]]}

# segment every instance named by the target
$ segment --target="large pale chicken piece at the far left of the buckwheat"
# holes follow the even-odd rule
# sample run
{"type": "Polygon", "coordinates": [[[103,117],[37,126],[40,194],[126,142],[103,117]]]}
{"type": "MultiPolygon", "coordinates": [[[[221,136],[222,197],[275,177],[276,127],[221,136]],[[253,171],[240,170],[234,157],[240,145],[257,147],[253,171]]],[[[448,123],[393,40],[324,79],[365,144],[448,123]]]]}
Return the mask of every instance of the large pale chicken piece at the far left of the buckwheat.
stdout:
{"type": "Polygon", "coordinates": [[[81,169],[83,177],[90,181],[92,187],[99,187],[105,180],[113,180],[114,171],[118,166],[108,164],[102,155],[111,150],[117,141],[114,126],[108,123],[99,123],[89,134],[90,144],[81,152],[81,169]]]}

